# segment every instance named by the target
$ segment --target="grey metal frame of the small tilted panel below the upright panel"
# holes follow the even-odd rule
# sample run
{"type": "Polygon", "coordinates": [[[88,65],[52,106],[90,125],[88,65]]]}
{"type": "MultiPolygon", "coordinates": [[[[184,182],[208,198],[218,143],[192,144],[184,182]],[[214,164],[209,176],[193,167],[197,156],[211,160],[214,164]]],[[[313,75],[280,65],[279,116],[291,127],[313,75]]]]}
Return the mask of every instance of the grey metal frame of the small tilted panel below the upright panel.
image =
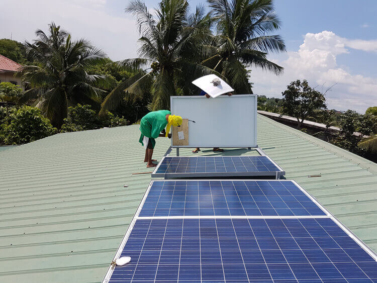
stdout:
{"type": "MultiPolygon", "coordinates": [[[[265,156],[273,165],[276,166],[278,171],[255,171],[255,172],[195,172],[195,173],[157,173],[158,168],[165,159],[162,157],[161,161],[157,164],[156,168],[153,170],[151,177],[152,178],[165,178],[165,179],[174,179],[174,178],[199,178],[199,177],[261,177],[261,176],[273,176],[275,179],[280,179],[281,176],[286,174],[286,171],[277,165],[268,155],[265,156]]],[[[201,156],[206,157],[206,156],[201,156]]],[[[213,157],[213,156],[211,156],[213,157]]],[[[239,156],[226,156],[226,157],[239,157],[239,156]]]]}

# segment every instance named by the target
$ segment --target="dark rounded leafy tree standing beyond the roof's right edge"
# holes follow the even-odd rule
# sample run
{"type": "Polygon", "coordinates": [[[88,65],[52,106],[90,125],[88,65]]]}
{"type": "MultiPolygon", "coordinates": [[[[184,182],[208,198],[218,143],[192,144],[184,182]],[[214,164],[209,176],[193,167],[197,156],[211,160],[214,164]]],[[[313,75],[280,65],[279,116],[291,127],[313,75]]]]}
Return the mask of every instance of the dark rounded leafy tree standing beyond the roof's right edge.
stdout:
{"type": "Polygon", "coordinates": [[[302,82],[298,79],[287,85],[287,90],[281,93],[283,96],[281,107],[282,114],[297,119],[297,129],[308,117],[313,116],[317,109],[327,109],[324,95],[309,86],[306,79],[302,82]]]}

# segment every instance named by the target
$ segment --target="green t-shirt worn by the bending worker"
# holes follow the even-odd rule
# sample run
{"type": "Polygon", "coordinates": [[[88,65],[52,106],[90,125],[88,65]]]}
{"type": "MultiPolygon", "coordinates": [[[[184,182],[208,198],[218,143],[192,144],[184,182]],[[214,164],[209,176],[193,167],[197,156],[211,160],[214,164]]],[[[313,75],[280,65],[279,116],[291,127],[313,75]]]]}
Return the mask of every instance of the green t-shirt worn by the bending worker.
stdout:
{"type": "Polygon", "coordinates": [[[147,138],[158,138],[158,135],[166,127],[166,115],[171,114],[168,110],[149,112],[140,121],[140,132],[147,138]]]}

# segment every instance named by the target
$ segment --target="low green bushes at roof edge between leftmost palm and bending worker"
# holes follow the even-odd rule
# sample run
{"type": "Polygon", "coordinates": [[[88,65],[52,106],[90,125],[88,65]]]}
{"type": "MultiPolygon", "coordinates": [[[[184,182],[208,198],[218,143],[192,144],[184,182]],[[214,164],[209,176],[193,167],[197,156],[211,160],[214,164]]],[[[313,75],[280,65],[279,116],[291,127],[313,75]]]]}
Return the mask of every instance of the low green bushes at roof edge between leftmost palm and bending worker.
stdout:
{"type": "Polygon", "coordinates": [[[103,117],[99,117],[96,111],[91,109],[90,105],[77,104],[75,107],[68,108],[68,118],[64,119],[61,132],[66,133],[93,130],[102,127],[118,127],[127,124],[128,121],[124,119],[123,116],[120,118],[108,111],[103,117]]]}

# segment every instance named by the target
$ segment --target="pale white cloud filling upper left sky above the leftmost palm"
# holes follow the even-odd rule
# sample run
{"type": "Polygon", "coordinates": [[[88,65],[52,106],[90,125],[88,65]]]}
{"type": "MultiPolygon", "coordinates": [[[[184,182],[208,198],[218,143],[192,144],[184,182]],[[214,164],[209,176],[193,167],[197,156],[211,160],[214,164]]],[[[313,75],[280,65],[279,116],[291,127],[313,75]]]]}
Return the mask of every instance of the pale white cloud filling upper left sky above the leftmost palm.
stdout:
{"type": "MultiPolygon", "coordinates": [[[[125,4],[119,7],[123,11],[125,4]]],[[[112,15],[106,10],[106,0],[18,0],[17,5],[0,9],[0,38],[18,41],[35,39],[35,31],[47,31],[54,21],[71,33],[73,38],[85,37],[104,49],[113,60],[137,55],[139,38],[135,21],[122,12],[112,15]]]]}

